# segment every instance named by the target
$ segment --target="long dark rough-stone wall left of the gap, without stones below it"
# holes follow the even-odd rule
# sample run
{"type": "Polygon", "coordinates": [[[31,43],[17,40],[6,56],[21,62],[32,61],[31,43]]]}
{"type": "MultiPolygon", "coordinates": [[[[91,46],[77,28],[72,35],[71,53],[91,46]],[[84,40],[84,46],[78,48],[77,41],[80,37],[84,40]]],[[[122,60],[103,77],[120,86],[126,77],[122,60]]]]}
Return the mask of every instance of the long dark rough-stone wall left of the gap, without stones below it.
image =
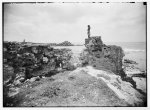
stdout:
{"type": "Polygon", "coordinates": [[[51,76],[58,70],[68,70],[72,68],[69,62],[71,56],[69,49],[4,42],[4,81],[9,79],[22,82],[36,76],[51,76]]]}

